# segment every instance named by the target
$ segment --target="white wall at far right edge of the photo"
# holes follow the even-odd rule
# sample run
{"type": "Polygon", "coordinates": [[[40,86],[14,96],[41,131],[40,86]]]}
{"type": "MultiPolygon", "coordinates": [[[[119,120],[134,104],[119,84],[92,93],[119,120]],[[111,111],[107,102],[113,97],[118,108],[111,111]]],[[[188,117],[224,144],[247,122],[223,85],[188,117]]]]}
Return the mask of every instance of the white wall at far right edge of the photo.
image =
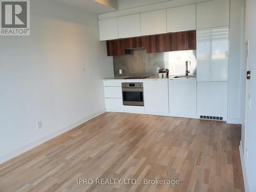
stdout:
{"type": "MultiPolygon", "coordinates": [[[[249,40],[248,65],[252,71],[251,77],[251,110],[246,114],[245,149],[248,149],[248,159],[245,157],[245,167],[250,191],[256,191],[256,1],[246,0],[246,37],[249,40]]],[[[247,81],[248,82],[248,81],[247,81]]]]}

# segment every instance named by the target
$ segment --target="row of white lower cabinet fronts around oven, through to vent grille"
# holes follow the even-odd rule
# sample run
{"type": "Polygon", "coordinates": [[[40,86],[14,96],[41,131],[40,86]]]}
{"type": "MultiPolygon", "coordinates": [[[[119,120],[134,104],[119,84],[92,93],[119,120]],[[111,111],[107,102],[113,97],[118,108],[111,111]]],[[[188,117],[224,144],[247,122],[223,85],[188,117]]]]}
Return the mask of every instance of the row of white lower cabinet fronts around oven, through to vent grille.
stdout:
{"type": "Polygon", "coordinates": [[[227,118],[226,81],[197,82],[197,79],[169,79],[142,82],[144,106],[124,106],[121,81],[104,81],[106,111],[185,118],[227,118]]]}

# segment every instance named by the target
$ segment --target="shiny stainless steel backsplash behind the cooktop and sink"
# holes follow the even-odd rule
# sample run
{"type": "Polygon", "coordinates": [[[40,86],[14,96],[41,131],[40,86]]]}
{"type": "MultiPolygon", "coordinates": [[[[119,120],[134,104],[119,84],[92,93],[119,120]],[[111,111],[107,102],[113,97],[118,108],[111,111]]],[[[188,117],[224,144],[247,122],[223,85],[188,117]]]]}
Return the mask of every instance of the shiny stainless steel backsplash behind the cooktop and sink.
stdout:
{"type": "Polygon", "coordinates": [[[186,61],[191,62],[189,75],[197,74],[196,50],[146,53],[145,49],[131,50],[131,54],[114,56],[114,73],[120,76],[158,75],[159,68],[167,68],[169,75],[185,75],[186,61]],[[122,74],[119,74],[119,70],[122,74]]]}

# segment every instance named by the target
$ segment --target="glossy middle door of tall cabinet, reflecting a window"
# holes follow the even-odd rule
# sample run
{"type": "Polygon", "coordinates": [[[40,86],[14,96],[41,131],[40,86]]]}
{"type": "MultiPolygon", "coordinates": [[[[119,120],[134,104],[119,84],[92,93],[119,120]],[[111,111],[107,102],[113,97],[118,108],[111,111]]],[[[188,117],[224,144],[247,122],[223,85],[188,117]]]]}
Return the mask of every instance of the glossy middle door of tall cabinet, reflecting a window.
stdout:
{"type": "Polygon", "coordinates": [[[197,80],[227,81],[229,28],[197,30],[197,80]]]}

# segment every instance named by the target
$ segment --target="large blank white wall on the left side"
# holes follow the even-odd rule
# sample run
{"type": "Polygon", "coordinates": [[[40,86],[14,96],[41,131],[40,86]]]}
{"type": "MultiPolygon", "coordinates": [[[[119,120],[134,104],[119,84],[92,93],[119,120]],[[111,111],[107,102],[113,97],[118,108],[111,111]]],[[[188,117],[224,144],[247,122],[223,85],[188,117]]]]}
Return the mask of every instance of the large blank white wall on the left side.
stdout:
{"type": "Polygon", "coordinates": [[[114,76],[96,14],[30,3],[31,36],[0,36],[0,162],[104,111],[114,76]]]}

